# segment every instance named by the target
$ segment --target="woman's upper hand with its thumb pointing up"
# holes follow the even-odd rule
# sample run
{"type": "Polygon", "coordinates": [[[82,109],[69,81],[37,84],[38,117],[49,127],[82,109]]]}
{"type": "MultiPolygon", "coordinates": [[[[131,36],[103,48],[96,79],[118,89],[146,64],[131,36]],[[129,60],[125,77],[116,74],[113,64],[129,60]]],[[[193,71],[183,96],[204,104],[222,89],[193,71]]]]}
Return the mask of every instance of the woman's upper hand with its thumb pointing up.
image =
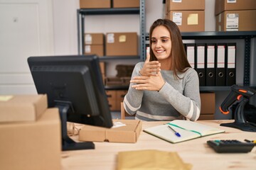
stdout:
{"type": "Polygon", "coordinates": [[[146,52],[146,60],[144,66],[139,71],[142,76],[157,76],[157,72],[160,72],[161,64],[159,61],[149,62],[150,55],[149,52],[146,52]]]}

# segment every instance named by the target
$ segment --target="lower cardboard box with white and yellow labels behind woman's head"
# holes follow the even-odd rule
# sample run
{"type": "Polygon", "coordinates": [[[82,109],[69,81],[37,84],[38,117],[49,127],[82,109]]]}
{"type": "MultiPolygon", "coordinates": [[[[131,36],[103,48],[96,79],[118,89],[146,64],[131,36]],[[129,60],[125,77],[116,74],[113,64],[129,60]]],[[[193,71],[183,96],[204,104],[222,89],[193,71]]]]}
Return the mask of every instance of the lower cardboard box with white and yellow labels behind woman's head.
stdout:
{"type": "Polygon", "coordinates": [[[205,11],[170,11],[166,17],[174,21],[181,32],[205,30],[205,11]]]}

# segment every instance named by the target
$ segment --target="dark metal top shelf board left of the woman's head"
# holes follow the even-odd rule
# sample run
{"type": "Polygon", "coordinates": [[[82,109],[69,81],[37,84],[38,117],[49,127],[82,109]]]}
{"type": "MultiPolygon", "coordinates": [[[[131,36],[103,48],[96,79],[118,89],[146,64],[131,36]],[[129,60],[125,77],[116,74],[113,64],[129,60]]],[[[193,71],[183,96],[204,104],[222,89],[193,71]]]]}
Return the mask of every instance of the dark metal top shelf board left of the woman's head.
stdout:
{"type": "Polygon", "coordinates": [[[82,15],[139,14],[139,8],[80,8],[82,15]]]}

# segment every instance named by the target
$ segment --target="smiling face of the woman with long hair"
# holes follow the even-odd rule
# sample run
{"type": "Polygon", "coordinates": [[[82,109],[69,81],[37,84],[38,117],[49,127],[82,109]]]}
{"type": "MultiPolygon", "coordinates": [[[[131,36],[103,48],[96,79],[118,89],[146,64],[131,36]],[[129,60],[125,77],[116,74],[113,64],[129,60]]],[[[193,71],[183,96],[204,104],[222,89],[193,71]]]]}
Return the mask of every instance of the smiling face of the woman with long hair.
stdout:
{"type": "Polygon", "coordinates": [[[151,49],[157,60],[165,60],[171,54],[171,35],[164,26],[154,28],[151,35],[151,49]]]}

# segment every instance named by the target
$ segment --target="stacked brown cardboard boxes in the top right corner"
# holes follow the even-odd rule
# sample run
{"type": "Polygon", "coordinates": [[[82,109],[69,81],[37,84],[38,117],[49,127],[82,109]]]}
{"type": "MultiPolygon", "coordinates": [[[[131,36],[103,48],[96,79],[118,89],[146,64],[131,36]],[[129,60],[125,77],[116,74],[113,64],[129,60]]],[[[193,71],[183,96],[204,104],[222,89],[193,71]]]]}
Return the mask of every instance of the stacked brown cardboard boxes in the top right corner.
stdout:
{"type": "Polygon", "coordinates": [[[255,0],[215,0],[216,31],[256,30],[255,0]]]}

